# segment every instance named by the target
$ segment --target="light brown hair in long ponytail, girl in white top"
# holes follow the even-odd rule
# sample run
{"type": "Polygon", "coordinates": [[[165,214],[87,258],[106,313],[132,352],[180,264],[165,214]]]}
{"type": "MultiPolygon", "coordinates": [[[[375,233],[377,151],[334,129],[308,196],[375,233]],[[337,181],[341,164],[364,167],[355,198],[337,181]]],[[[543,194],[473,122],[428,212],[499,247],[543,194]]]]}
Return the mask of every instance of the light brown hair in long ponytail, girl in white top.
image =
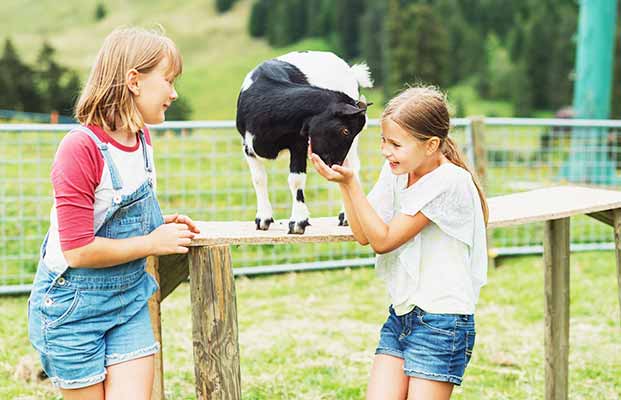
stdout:
{"type": "Polygon", "coordinates": [[[388,102],[382,113],[382,119],[386,118],[390,118],[418,140],[427,140],[434,136],[440,139],[442,154],[450,162],[464,168],[472,175],[472,180],[481,198],[483,218],[487,225],[489,210],[483,188],[472,169],[464,161],[459,147],[448,136],[451,125],[446,96],[433,86],[411,87],[388,102]]]}

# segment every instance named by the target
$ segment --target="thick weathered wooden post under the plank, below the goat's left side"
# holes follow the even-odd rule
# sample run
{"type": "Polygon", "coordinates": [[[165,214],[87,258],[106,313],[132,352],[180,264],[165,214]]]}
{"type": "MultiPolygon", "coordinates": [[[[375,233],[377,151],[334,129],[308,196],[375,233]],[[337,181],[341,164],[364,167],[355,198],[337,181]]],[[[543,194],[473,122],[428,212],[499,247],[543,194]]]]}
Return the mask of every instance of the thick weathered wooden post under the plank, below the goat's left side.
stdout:
{"type": "Polygon", "coordinates": [[[230,248],[192,248],[189,264],[197,398],[239,400],[237,307],[230,248]]]}

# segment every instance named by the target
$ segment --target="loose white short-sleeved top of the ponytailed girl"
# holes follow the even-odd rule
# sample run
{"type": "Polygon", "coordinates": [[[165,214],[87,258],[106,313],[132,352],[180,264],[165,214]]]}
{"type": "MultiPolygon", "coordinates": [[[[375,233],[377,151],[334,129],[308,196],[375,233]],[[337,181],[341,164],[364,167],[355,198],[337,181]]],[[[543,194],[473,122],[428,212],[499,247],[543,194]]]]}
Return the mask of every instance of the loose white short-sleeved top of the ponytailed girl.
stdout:
{"type": "Polygon", "coordinates": [[[418,306],[430,313],[474,314],[487,282],[487,244],[481,200],[472,176],[452,163],[407,187],[388,163],[368,195],[384,222],[423,213],[431,222],[397,249],[377,256],[376,271],[397,315],[418,306]]]}

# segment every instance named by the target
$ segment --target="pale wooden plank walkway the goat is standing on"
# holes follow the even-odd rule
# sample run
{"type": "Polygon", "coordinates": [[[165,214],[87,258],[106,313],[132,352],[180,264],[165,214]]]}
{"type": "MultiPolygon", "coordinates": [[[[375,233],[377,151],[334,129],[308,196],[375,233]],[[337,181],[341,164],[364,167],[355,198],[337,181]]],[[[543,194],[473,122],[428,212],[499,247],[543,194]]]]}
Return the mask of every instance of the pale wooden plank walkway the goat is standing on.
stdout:
{"type": "MultiPolygon", "coordinates": [[[[521,225],[621,208],[621,191],[582,186],[555,186],[488,199],[488,228],[521,225]]],[[[254,221],[197,221],[201,230],[191,246],[283,244],[353,241],[349,227],[335,217],[311,218],[303,235],[290,235],[289,221],[279,220],[268,231],[254,221]]]]}

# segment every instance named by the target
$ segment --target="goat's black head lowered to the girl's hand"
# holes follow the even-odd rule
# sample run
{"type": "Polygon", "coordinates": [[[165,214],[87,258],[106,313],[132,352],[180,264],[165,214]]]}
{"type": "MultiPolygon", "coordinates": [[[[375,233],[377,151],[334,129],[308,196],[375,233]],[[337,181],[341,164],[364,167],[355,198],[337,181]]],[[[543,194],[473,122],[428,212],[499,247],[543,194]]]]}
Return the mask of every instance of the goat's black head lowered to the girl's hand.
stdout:
{"type": "Polygon", "coordinates": [[[352,142],[364,128],[367,105],[364,99],[333,103],[306,121],[302,133],[309,136],[313,153],[327,165],[343,164],[352,142]]]}

